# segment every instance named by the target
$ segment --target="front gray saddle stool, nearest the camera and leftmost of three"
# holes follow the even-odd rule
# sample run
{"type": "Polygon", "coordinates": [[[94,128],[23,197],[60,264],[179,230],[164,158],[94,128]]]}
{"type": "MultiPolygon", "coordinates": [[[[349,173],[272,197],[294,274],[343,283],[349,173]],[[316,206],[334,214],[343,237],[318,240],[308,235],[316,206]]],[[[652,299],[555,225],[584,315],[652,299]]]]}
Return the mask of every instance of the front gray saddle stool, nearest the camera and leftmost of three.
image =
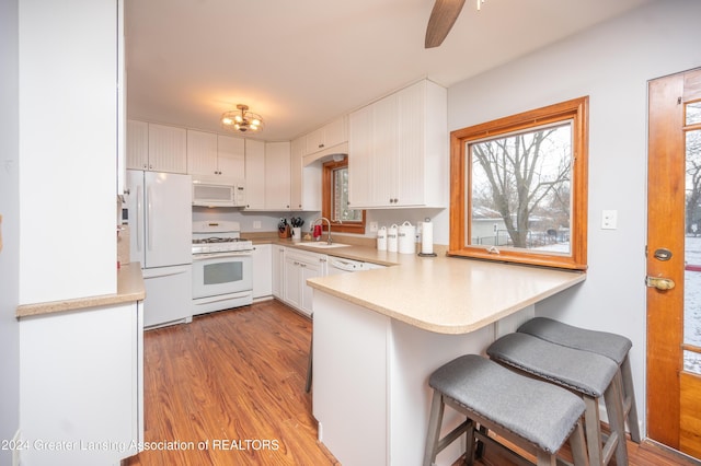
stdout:
{"type": "Polygon", "coordinates": [[[475,435],[496,445],[495,440],[475,430],[475,423],[532,452],[538,465],[554,465],[555,453],[567,440],[575,465],[588,464],[581,423],[585,404],[576,395],[519,375],[476,354],[466,354],[440,366],[430,375],[428,384],[434,395],[425,466],[430,466],[436,455],[462,433],[467,433],[468,464],[474,461],[475,435]],[[440,439],[445,405],[468,419],[440,439]]]}

